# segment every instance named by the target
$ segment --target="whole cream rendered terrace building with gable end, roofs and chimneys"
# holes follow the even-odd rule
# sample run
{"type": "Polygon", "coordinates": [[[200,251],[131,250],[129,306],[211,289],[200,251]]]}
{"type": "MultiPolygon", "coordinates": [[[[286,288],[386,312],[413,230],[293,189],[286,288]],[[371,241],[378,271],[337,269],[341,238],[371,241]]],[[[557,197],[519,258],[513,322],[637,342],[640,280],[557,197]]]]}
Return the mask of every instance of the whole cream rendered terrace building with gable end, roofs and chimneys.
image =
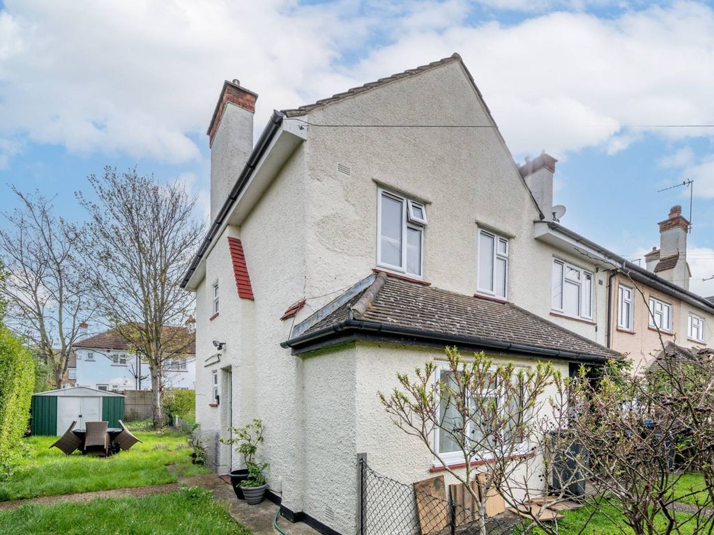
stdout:
{"type": "MultiPolygon", "coordinates": [[[[288,518],[353,534],[361,453],[406,483],[443,469],[377,392],[443,360],[446,345],[564,373],[625,351],[639,362],[657,347],[633,281],[660,327],[700,317],[691,334],[710,341],[714,305],[680,275],[627,263],[555,220],[555,159],[513,161],[458,55],[275,111],[253,145],[256,98],[223,84],[208,127],[213,223],[183,285],[196,292],[208,459],[238,468],[219,440],[262,419],[269,496],[288,518]]],[[[660,224],[660,262],[680,255],[672,273],[685,226],[677,210],[660,224]]]]}

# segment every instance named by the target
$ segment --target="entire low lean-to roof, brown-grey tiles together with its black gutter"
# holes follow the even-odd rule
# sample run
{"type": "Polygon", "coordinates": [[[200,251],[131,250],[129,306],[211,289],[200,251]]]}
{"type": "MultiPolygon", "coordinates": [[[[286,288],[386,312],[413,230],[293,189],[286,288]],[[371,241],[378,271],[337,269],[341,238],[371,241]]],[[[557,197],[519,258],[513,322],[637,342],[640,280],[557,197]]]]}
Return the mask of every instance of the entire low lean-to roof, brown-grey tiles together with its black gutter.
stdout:
{"type": "Polygon", "coordinates": [[[554,359],[604,361],[618,353],[510,302],[472,297],[380,272],[318,310],[283,342],[304,352],[360,337],[417,345],[506,352],[554,359]]]}

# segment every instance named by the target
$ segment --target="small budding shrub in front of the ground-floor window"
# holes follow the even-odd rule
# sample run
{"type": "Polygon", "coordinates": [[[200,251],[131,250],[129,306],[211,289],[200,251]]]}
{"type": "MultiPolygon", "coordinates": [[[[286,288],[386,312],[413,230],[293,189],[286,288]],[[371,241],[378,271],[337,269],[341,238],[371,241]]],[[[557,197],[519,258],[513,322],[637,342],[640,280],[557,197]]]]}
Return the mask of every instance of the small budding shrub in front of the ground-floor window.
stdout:
{"type": "Polygon", "coordinates": [[[496,365],[483,352],[463,360],[458,350],[446,348],[445,368],[428,362],[423,370],[417,368],[416,377],[398,374],[397,378],[399,386],[391,394],[379,394],[382,404],[395,424],[420,439],[471,494],[478,504],[482,535],[491,489],[547,533],[554,532],[524,506],[545,491],[545,430],[555,427],[550,398],[565,392],[565,382],[552,365],[496,365]],[[463,469],[449,466],[435,443],[435,431],[440,443],[459,454],[463,469]],[[484,459],[488,462],[473,466],[484,459]],[[471,484],[478,474],[483,474],[478,480],[481,492],[471,484]]]}

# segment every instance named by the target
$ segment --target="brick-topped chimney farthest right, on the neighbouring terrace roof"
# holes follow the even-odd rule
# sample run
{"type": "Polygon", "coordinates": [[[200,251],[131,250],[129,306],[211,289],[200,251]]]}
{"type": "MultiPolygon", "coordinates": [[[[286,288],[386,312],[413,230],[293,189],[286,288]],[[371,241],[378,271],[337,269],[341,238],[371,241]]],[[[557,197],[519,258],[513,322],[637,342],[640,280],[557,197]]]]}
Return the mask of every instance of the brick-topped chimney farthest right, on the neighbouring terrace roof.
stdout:
{"type": "Polygon", "coordinates": [[[660,227],[660,248],[653,248],[645,255],[647,269],[665,280],[689,289],[692,276],[687,263],[687,234],[689,221],[682,215],[682,207],[670,209],[667,219],[658,223],[660,227]]]}

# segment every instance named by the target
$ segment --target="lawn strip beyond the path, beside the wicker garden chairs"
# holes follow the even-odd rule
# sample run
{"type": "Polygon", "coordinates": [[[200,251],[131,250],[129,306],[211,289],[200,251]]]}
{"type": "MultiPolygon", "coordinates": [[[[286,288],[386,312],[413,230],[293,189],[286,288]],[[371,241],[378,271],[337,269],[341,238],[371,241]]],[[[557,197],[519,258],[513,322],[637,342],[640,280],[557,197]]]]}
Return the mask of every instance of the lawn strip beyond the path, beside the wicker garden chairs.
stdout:
{"type": "Polygon", "coordinates": [[[173,483],[177,476],[207,473],[191,464],[186,435],[136,432],[144,443],[108,458],[48,449],[55,437],[28,437],[29,456],[9,481],[0,481],[0,501],[123,487],[173,483]],[[173,464],[173,472],[167,465],[173,464]]]}

